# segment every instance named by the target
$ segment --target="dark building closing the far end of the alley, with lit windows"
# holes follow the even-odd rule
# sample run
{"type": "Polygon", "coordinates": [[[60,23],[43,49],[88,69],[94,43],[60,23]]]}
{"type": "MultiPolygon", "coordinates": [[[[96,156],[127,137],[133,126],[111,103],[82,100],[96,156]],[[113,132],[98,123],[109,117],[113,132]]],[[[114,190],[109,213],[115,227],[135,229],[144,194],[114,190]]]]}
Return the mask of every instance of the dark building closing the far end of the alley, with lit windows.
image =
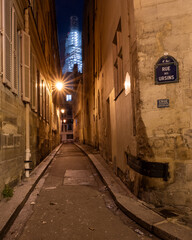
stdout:
{"type": "Polygon", "coordinates": [[[82,107],[82,73],[78,64],[75,64],[72,72],[63,75],[64,91],[61,93],[61,141],[73,142],[79,140],[81,134],[81,107],[82,107]],[[77,124],[78,122],[78,124],[77,124]]]}

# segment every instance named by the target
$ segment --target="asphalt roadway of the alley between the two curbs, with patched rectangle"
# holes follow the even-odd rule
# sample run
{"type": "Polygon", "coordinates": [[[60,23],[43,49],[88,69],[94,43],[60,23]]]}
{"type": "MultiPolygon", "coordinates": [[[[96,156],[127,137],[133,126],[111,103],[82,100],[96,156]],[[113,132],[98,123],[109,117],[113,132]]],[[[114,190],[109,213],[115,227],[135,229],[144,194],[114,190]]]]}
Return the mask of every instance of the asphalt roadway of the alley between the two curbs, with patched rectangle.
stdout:
{"type": "Polygon", "coordinates": [[[158,239],[115,205],[89,158],[63,144],[5,240],[158,239]]]}

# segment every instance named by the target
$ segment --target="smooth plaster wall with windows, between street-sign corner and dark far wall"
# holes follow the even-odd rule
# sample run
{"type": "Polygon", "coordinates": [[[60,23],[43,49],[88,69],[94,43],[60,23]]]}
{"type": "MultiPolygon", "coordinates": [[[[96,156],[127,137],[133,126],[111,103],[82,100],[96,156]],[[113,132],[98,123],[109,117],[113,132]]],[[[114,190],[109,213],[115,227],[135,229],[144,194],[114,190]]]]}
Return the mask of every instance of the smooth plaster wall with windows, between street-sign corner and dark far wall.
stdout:
{"type": "MultiPolygon", "coordinates": [[[[136,155],[136,137],[133,134],[133,95],[122,91],[116,96],[114,76],[113,39],[121,19],[123,73],[119,81],[124,82],[126,73],[133,76],[132,54],[135,54],[135,29],[133,5],[126,1],[97,1],[95,10],[95,99],[98,118],[99,147],[104,158],[120,175],[127,169],[125,152],[136,155]],[[128,16],[129,13],[129,16],[128,16]],[[98,101],[100,94],[100,103],[98,101]],[[99,106],[100,105],[100,106],[99,106]],[[100,110],[99,110],[100,108],[100,110]],[[100,116],[100,118],[98,117],[100,116]]],[[[132,77],[133,78],[133,77],[132,77]]],[[[136,85],[134,83],[133,85],[136,85]]]]}

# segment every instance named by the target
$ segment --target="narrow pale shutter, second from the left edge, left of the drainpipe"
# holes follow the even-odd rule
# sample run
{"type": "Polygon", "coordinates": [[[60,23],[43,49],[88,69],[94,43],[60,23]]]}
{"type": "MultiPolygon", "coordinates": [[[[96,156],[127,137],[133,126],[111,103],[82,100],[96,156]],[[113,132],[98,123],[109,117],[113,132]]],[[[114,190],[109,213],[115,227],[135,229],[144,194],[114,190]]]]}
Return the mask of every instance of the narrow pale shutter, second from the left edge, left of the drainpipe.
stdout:
{"type": "Polygon", "coordinates": [[[17,76],[17,16],[15,9],[12,9],[12,91],[18,94],[17,76]]]}

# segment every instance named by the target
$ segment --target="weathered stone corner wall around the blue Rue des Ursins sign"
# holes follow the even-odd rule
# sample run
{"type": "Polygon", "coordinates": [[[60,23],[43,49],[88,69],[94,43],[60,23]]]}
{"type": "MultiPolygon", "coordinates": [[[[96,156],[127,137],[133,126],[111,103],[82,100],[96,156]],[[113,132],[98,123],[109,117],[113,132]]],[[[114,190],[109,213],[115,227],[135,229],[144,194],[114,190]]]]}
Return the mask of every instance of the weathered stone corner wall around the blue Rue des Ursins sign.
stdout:
{"type": "Polygon", "coordinates": [[[190,1],[135,1],[141,119],[151,155],[142,146],[138,151],[149,161],[169,163],[168,182],[144,179],[148,193],[141,196],[157,204],[192,206],[191,18],[190,1]],[[155,85],[154,65],[164,53],[178,61],[179,83],[155,85]],[[170,107],[157,108],[158,99],[169,99],[170,107]]]}

